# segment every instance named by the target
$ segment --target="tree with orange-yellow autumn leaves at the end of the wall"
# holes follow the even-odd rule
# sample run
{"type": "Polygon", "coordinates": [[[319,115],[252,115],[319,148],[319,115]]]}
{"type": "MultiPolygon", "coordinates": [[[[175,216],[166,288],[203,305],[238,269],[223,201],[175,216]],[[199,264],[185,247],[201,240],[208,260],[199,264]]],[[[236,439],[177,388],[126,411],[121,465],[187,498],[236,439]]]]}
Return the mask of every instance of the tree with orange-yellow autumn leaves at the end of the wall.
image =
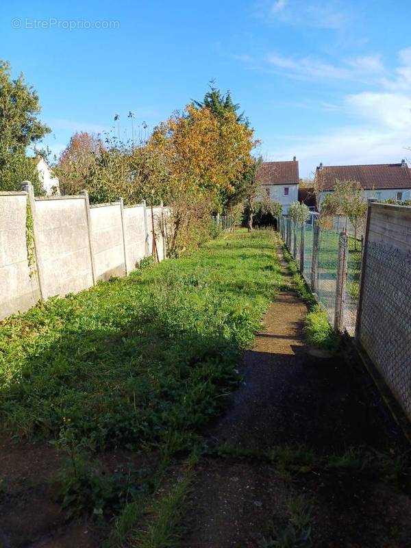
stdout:
{"type": "Polygon", "coordinates": [[[170,172],[174,253],[186,247],[188,227],[209,223],[210,212],[234,192],[252,164],[254,144],[252,129],[238,123],[234,112],[217,115],[205,105],[187,105],[154,129],[148,147],[160,151],[170,172]],[[196,207],[188,208],[190,202],[196,207]]]}

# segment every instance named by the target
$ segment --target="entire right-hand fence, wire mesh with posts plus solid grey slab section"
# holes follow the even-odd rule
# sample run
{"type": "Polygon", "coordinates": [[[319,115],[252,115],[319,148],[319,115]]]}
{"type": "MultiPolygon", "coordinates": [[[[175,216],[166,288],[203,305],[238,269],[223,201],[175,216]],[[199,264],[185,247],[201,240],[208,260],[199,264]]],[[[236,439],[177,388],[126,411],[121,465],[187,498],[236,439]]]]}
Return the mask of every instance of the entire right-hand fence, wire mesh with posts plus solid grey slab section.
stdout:
{"type": "Polygon", "coordinates": [[[411,418],[411,208],[369,203],[364,249],[343,225],[278,226],[330,323],[356,336],[411,418]]]}

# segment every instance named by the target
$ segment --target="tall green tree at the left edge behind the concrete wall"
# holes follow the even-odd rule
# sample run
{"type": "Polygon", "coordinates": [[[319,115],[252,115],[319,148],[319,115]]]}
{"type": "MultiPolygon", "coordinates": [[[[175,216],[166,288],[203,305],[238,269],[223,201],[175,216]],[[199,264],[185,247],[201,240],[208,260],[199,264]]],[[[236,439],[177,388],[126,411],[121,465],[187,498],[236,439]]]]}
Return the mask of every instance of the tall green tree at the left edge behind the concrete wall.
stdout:
{"type": "Polygon", "coordinates": [[[12,79],[10,64],[0,60],[0,190],[20,190],[29,179],[41,192],[36,164],[27,157],[27,147],[51,131],[38,119],[40,110],[38,95],[23,74],[12,79]]]}

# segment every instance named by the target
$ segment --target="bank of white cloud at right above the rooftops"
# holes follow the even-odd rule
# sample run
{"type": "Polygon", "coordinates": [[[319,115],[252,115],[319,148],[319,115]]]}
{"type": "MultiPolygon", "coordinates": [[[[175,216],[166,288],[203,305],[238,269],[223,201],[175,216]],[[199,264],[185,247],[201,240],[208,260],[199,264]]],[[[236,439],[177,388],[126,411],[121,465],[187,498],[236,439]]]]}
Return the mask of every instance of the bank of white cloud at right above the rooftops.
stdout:
{"type": "MultiPolygon", "coordinates": [[[[282,160],[297,154],[301,176],[323,164],[366,164],[411,160],[411,48],[398,55],[399,64],[388,71],[378,56],[347,62],[351,76],[369,71],[376,90],[364,90],[343,97],[341,108],[347,125],[314,135],[295,136],[292,145],[279,145],[266,151],[268,158],[282,160]],[[384,77],[379,73],[385,71],[384,77]],[[348,119],[352,119],[352,123],[348,119]]],[[[282,69],[307,72],[308,64],[296,63],[282,69]],[[301,66],[303,69],[301,69],[301,66]]],[[[287,138],[287,142],[290,140],[287,138]]],[[[411,163],[411,162],[410,162],[411,163]]]]}

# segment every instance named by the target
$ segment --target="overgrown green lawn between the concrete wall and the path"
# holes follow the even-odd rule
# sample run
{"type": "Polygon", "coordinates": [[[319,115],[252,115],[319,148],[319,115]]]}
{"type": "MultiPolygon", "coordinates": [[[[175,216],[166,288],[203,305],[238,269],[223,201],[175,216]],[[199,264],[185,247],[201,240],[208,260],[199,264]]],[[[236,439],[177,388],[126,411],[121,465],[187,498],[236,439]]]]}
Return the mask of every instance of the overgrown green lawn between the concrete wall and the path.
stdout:
{"type": "Polygon", "coordinates": [[[271,233],[234,233],[1,322],[3,428],[70,428],[90,449],[190,447],[280,282],[271,233]]]}

